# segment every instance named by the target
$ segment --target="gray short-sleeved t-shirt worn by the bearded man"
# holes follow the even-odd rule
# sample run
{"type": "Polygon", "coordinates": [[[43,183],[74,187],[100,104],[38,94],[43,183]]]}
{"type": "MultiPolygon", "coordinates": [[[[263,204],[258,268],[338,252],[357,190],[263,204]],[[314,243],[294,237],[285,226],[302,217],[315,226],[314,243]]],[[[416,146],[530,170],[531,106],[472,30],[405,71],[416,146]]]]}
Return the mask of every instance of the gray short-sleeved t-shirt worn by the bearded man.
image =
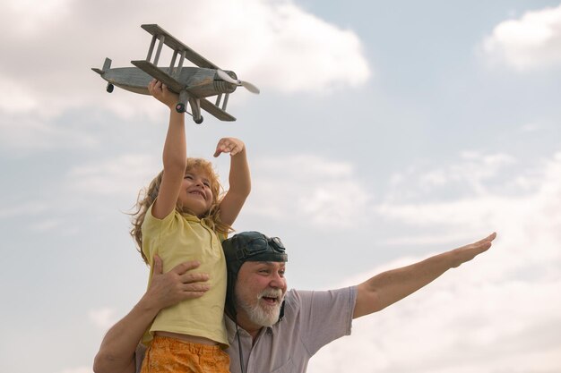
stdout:
{"type": "MultiPolygon", "coordinates": [[[[329,291],[290,290],[285,297],[284,317],[275,325],[263,327],[255,343],[239,328],[241,353],[246,373],[304,373],[310,358],[343,335],[350,335],[357,288],[329,291]]],[[[242,373],[236,324],[226,318],[231,373],[242,373]]],[[[136,369],[140,371],[143,351],[137,350],[136,369]]]]}

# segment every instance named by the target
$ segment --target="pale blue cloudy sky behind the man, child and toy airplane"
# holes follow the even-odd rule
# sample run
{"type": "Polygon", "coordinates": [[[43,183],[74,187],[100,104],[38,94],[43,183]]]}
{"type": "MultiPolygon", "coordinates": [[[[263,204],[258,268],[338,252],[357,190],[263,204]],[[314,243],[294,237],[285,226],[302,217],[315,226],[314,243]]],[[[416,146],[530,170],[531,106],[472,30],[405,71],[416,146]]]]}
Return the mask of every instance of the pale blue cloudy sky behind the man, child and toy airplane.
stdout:
{"type": "MultiPolygon", "coordinates": [[[[91,373],[148,269],[128,235],[167,108],[91,71],[158,23],[261,89],[187,151],[246,143],[237,232],[279,236],[296,289],[358,284],[496,232],[353,322],[308,372],[561,371],[561,3],[0,0],[0,371],[91,373]]],[[[160,61],[164,61],[166,54],[160,61]]],[[[227,188],[229,157],[213,159],[227,188]]]]}

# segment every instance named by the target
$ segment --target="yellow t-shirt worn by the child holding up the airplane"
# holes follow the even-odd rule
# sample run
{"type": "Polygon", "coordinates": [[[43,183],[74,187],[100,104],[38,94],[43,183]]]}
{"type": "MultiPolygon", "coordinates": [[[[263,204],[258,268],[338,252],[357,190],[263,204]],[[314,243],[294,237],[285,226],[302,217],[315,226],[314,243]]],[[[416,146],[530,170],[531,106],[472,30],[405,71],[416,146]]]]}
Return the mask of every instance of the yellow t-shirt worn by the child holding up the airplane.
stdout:
{"type": "MultiPolygon", "coordinates": [[[[226,259],[217,234],[196,216],[182,215],[174,209],[160,220],[152,216],[149,208],[142,222],[142,251],[151,267],[154,254],[158,254],[164,273],[187,260],[198,260],[201,267],[196,272],[211,277],[208,281],[211,289],[203,297],[160,310],[142,342],[150,342],[155,331],[166,331],[202,336],[227,346],[224,324],[226,259]]],[[[151,276],[152,273],[149,285],[151,276]]]]}

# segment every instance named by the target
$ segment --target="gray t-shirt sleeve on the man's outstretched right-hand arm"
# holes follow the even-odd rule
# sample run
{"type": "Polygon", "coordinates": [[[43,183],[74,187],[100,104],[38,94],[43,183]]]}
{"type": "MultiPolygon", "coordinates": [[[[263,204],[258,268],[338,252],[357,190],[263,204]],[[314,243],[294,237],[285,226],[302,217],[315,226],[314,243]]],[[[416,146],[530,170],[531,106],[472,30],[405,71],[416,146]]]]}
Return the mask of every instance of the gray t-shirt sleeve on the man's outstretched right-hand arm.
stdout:
{"type": "Polygon", "coordinates": [[[329,291],[298,291],[298,324],[302,343],[310,356],[325,344],[350,335],[357,288],[329,291]]]}

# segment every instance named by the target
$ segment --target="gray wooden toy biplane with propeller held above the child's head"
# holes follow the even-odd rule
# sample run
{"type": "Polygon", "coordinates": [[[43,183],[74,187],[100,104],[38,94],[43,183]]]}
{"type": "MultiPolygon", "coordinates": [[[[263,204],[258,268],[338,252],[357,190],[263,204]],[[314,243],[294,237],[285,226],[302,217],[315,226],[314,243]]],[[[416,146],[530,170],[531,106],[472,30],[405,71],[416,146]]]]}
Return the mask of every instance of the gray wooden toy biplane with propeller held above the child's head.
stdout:
{"type": "Polygon", "coordinates": [[[234,92],[238,86],[243,86],[252,93],[259,93],[253,84],[247,81],[237,80],[235,72],[225,72],[202,55],[186,47],[177,38],[171,36],[157,24],[144,24],[142,29],[152,35],[148,56],[146,60],[131,61],[136,67],[119,67],[111,69],[111,60],[105,59],[101,70],[92,68],[99,73],[101,78],[108,81],[107,91],[111,93],[114,86],[129,90],[134,93],[149,95],[148,84],[152,79],[157,79],[168,86],[168,89],[179,94],[176,110],[185,113],[187,104],[191,106],[194,123],[203,123],[201,108],[216,116],[220,121],[235,121],[236,118],[226,112],[229,94],[234,92]],[[158,41],[156,55],[151,62],[151,57],[158,41]],[[163,45],[170,47],[173,52],[169,67],[158,67],[160,52],[163,45]],[[179,57],[176,65],[177,57],[179,57]],[[185,59],[199,66],[183,66],[185,59]],[[224,101],[220,107],[220,101],[224,95],[224,101]],[[211,103],[205,97],[217,96],[216,102],[211,103]]]}

